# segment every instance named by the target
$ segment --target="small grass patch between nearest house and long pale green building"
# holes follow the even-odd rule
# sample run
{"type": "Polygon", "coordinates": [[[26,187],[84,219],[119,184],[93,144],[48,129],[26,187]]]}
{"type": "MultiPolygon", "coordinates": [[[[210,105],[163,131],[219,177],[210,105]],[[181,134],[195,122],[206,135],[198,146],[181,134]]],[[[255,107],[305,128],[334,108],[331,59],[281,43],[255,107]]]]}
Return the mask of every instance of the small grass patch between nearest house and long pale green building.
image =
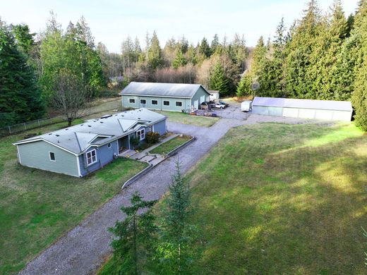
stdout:
{"type": "MultiPolygon", "coordinates": [[[[153,110],[154,111],[154,110],[153,110]]],[[[181,113],[179,111],[156,111],[157,113],[167,116],[167,121],[176,123],[191,124],[201,127],[210,127],[219,118],[212,118],[211,116],[192,116],[191,114],[181,113]]]]}

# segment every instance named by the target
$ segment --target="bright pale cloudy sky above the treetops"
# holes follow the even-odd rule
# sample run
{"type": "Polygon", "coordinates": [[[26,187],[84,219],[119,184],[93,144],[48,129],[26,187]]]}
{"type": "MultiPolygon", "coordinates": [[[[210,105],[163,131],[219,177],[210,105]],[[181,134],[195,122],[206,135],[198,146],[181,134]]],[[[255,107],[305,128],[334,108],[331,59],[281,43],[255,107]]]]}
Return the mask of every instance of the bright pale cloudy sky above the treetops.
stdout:
{"type": "MultiPolygon", "coordinates": [[[[120,52],[130,35],[144,47],[145,35],[155,30],[161,47],[167,39],[183,35],[196,44],[209,42],[215,34],[222,40],[243,34],[255,46],[260,35],[273,37],[284,17],[287,27],[301,18],[308,0],[0,0],[0,18],[6,23],[25,23],[32,32],[44,30],[49,11],[56,13],[64,28],[84,16],[95,36],[110,52],[120,52]]],[[[342,0],[344,12],[354,13],[359,0],[342,0]]],[[[318,0],[326,12],[332,0],[318,0]]]]}

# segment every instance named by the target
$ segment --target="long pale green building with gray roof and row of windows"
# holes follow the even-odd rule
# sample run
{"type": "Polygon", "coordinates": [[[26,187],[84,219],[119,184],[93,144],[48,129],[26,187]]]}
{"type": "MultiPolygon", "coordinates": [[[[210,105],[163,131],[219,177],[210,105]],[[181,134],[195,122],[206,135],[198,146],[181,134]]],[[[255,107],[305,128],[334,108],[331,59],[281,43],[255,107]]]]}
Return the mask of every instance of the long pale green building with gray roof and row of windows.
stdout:
{"type": "Polygon", "coordinates": [[[200,84],[131,82],[120,92],[124,108],[148,108],[162,111],[199,109],[208,102],[210,92],[200,84]]]}

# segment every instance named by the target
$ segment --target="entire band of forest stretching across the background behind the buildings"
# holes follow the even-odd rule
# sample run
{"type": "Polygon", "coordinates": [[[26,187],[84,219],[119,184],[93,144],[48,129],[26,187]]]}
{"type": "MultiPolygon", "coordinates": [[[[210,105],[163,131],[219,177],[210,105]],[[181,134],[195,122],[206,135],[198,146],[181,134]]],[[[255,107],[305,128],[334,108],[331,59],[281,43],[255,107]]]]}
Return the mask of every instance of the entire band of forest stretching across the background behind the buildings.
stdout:
{"type": "Polygon", "coordinates": [[[303,16],[290,27],[280,20],[275,37],[260,36],[254,49],[236,34],[194,44],[172,37],[164,47],[157,33],[126,37],[120,53],[95,44],[83,16],[66,29],[50,13],[45,29],[0,20],[0,126],[47,116],[73,101],[60,95],[67,87],[80,104],[117,93],[131,81],[200,83],[221,97],[264,96],[351,100],[358,126],[367,130],[367,0],[344,14],[340,0],[321,11],[308,1],[303,16]],[[256,91],[253,83],[260,84],[256,91]],[[81,100],[83,98],[85,100],[81,100]]]}

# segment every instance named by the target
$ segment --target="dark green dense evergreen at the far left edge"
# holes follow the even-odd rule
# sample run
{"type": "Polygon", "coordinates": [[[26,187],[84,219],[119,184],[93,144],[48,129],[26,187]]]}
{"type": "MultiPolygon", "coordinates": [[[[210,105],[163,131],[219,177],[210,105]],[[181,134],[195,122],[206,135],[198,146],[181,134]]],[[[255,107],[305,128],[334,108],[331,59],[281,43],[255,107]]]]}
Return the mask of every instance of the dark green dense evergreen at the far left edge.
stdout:
{"type": "Polygon", "coordinates": [[[11,125],[44,114],[35,74],[16,39],[4,23],[0,26],[0,126],[11,125]]]}

